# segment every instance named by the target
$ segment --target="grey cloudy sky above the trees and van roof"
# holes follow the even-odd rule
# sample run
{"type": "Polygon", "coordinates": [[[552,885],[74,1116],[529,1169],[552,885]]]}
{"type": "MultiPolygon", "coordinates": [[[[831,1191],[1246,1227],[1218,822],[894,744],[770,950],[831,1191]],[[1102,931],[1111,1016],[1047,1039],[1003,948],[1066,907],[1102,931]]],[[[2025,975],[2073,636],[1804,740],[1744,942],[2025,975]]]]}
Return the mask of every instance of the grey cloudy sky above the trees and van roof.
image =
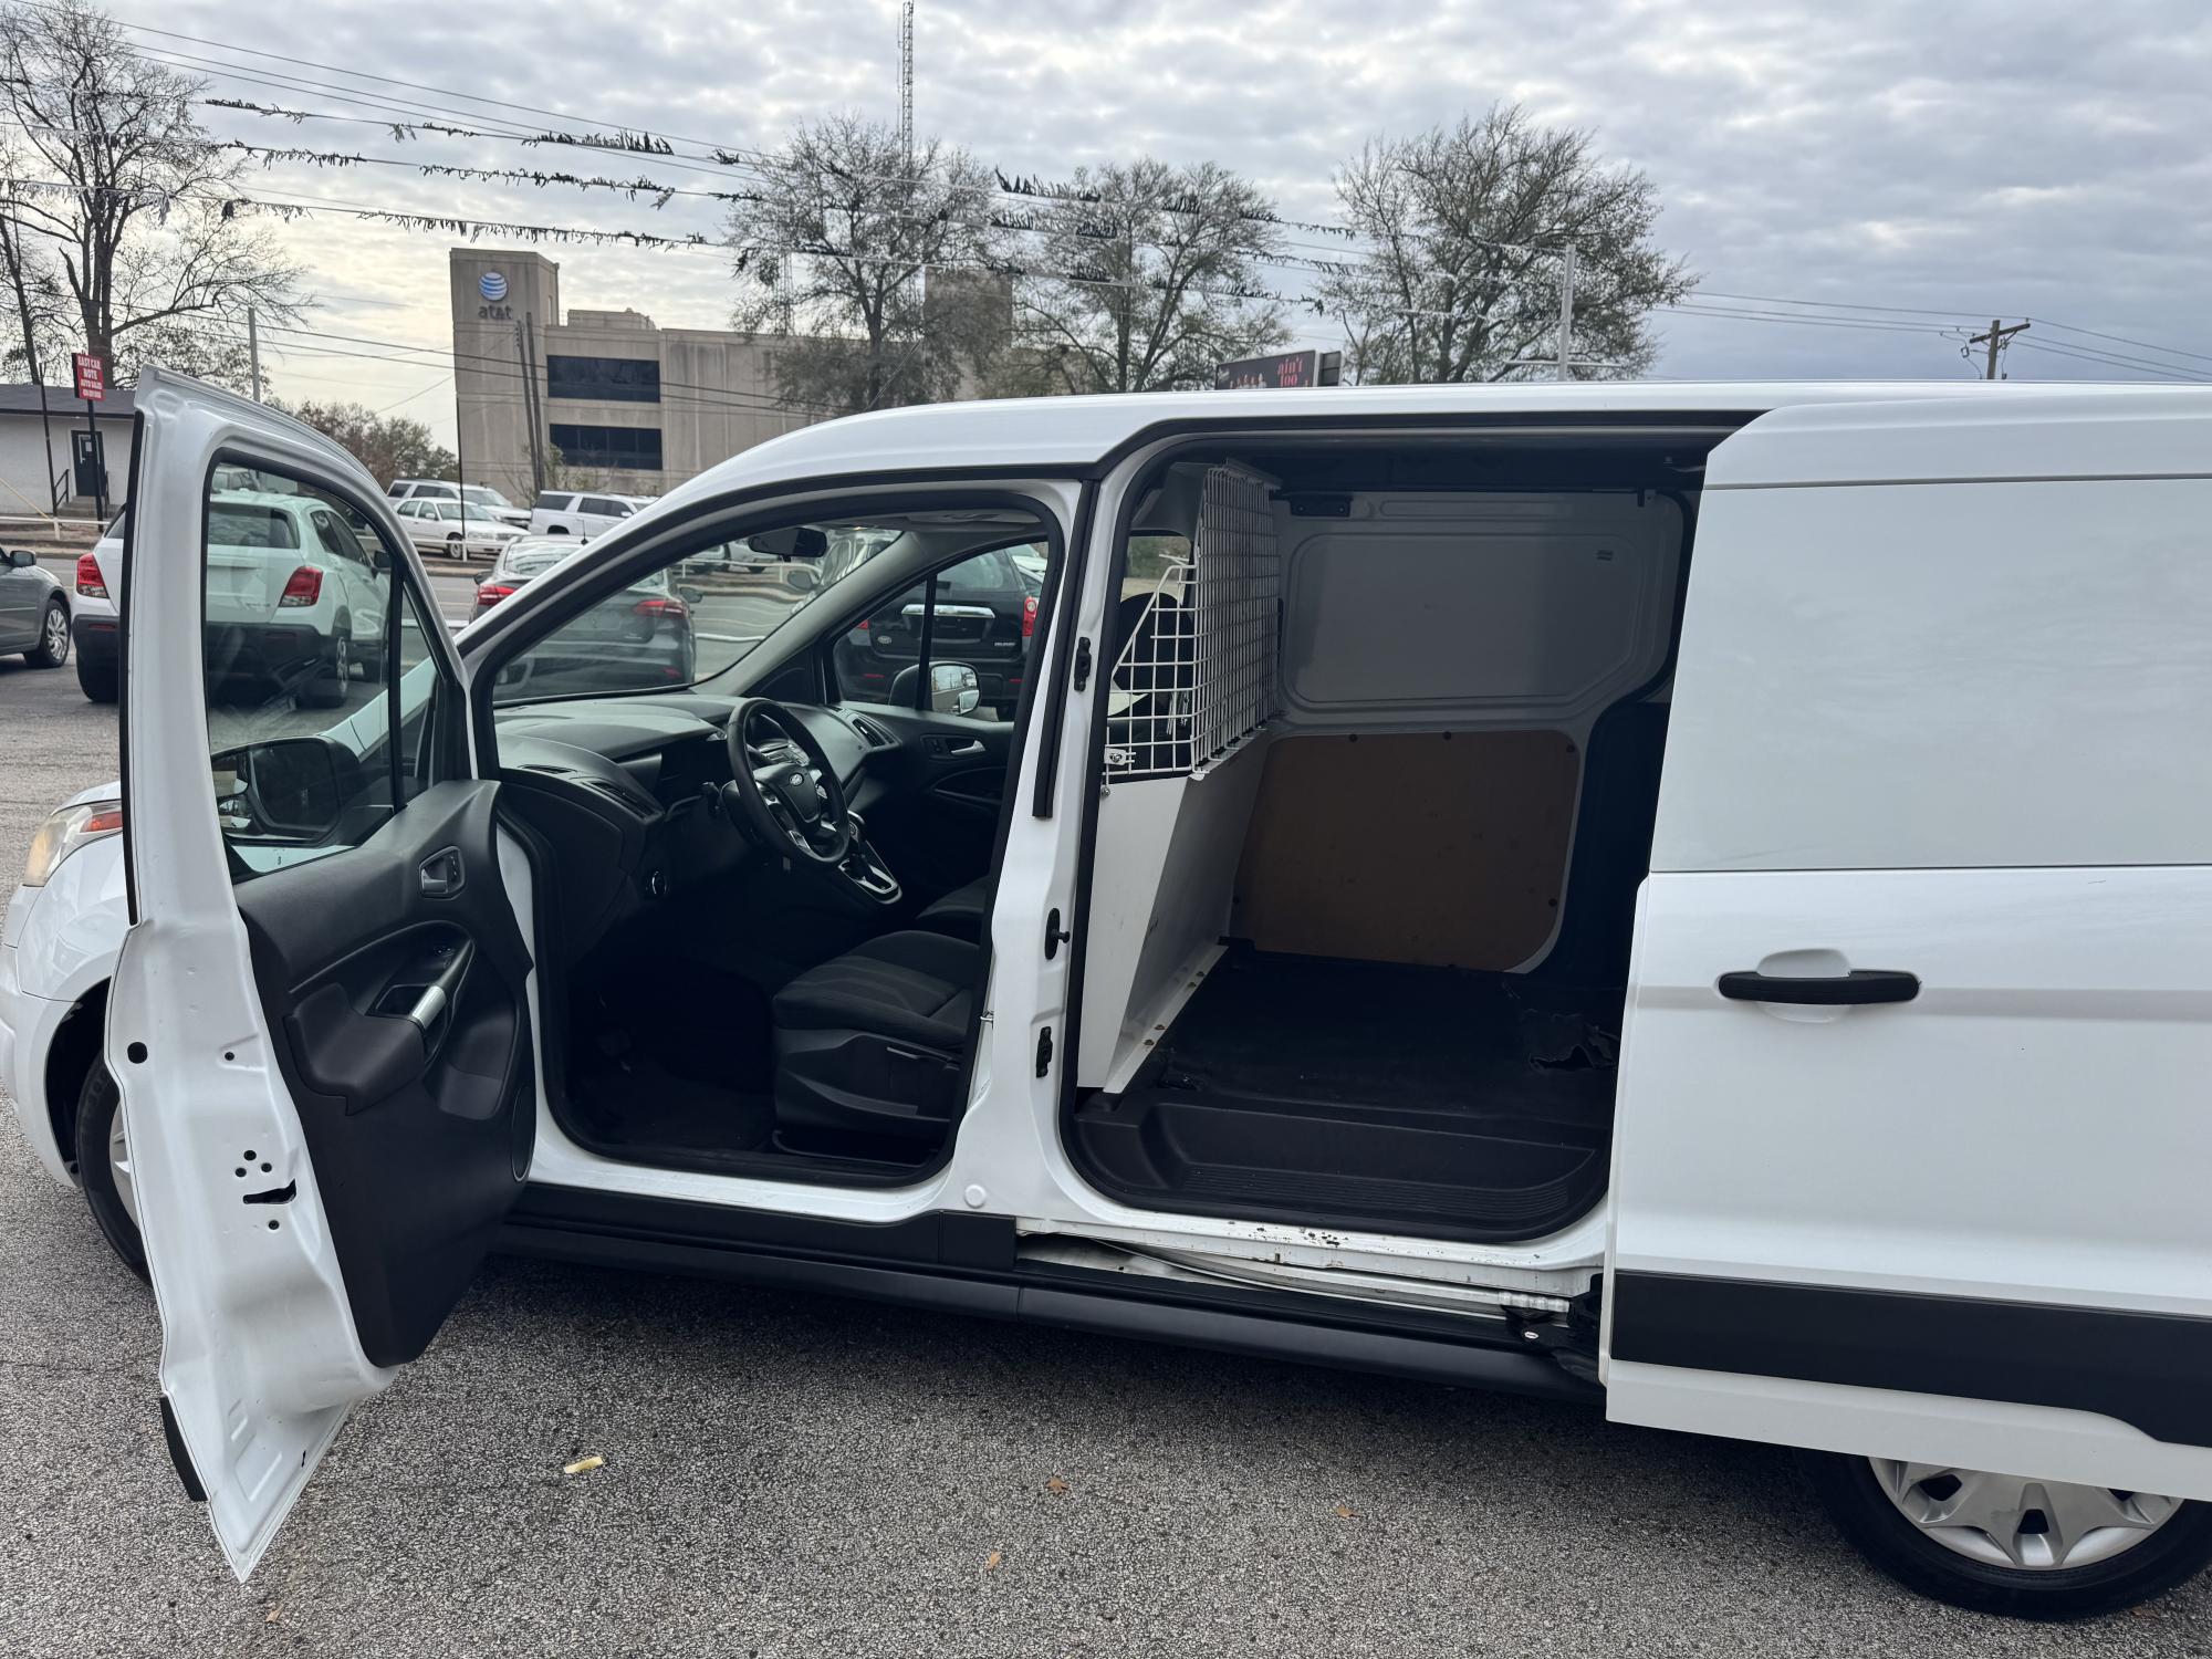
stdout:
{"type": "MultiPolygon", "coordinates": [[[[730,188],[697,161],[396,142],[378,122],[560,119],[653,131],[697,155],[701,142],[774,146],[830,108],[896,117],[891,0],[122,0],[115,15],[212,97],[352,117],[206,111],[217,135],[272,146],[730,188]]],[[[1964,376],[1958,334],[2004,314],[2035,319],[2008,356],[2015,378],[2159,378],[2148,365],[2212,378],[2203,0],[920,0],[916,33],[918,128],[1009,175],[1137,153],[1217,159],[1298,219],[1336,215],[1332,170],[1378,133],[1493,100],[1595,128],[1608,157],[1657,181],[1659,237],[1703,276],[1701,314],[1659,319],[1657,374],[1964,376]]],[[[250,188],[661,234],[719,219],[708,199],[655,210],[392,166],[279,164],[250,188]]],[[[321,332],[292,336],[274,389],[396,405],[449,434],[436,356],[453,239],[330,215],[274,234],[310,270],[321,332]]],[[[568,305],[728,323],[712,252],[546,252],[568,305]]],[[[1294,270],[1281,279],[1301,288],[1294,270]]],[[[1294,327],[1301,343],[1338,343],[1318,319],[1294,327]]]]}

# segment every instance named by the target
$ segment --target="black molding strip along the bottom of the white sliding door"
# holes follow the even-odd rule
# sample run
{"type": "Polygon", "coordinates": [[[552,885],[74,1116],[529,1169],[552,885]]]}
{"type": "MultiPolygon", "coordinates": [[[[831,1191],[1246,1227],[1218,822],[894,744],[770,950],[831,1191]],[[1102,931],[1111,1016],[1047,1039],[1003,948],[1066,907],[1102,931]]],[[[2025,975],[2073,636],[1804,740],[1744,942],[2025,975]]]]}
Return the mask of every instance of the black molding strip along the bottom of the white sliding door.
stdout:
{"type": "Polygon", "coordinates": [[[2095,1411],[2212,1447],[2212,1318],[1617,1272],[1613,1358],[2095,1411]]]}

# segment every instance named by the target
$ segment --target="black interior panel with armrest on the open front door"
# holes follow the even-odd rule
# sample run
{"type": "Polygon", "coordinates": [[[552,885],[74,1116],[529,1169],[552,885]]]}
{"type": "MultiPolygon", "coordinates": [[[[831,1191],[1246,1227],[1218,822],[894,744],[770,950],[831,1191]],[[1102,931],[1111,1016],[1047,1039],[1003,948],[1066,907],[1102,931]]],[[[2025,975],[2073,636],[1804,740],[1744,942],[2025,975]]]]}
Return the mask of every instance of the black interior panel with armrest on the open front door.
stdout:
{"type": "Polygon", "coordinates": [[[531,953],[498,878],[498,790],[434,785],[361,847],[237,889],[376,1365],[429,1345],[529,1170],[531,953]]]}

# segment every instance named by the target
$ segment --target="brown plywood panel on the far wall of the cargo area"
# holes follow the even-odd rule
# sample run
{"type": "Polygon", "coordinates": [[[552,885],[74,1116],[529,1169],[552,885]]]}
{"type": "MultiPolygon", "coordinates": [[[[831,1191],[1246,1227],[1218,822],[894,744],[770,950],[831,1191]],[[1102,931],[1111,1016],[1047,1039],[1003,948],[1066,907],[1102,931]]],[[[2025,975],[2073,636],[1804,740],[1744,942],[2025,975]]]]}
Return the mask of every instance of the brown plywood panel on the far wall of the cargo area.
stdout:
{"type": "Polygon", "coordinates": [[[1579,776],[1566,732],[1276,739],[1232,929],[1263,951],[1517,967],[1559,918],[1579,776]]]}

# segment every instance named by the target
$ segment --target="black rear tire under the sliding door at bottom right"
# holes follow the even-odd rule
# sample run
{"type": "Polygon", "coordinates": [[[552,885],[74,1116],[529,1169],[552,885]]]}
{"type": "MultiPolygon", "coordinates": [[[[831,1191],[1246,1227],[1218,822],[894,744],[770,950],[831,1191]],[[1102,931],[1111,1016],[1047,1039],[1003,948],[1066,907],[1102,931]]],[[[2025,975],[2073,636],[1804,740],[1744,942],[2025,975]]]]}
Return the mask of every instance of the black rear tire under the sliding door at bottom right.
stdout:
{"type": "Polygon", "coordinates": [[[2002,1482],[2024,1486],[2028,1526],[2011,1544],[2000,1544],[1993,1533],[1971,1526],[1924,1526],[1902,1506],[1902,1502],[1918,1506],[1929,1493],[1944,1493],[1947,1482],[1958,1491],[1958,1478],[1993,1480],[1989,1475],[1832,1451],[1803,1451],[1798,1460],[1836,1528],[1874,1566],[1907,1590],[1975,1613],[2011,1619],[2093,1619],[2163,1595],[2212,1562],[2212,1504],[2172,1504],[2166,1498],[2059,1482],[2002,1482]],[[1905,1500],[1891,1498],[1893,1486],[1905,1491],[1905,1500]],[[2037,1526],[2035,1517],[2044,1511],[2035,1504],[2051,1502],[2055,1511],[2057,1498],[2068,1493],[2079,1495],[2073,1502],[2084,1509],[2084,1517],[2112,1506],[2130,1520],[2119,1526],[2090,1522],[2086,1531],[2077,1526],[2075,1540],[2051,1528],[2048,1520],[2037,1526]],[[2064,1559],[2004,1564],[2004,1553],[2011,1548],[2028,1546],[2048,1555],[2051,1544],[2044,1540],[2062,1542],[2068,1555],[2081,1557],[2081,1564],[2068,1566],[2064,1559]]]}

